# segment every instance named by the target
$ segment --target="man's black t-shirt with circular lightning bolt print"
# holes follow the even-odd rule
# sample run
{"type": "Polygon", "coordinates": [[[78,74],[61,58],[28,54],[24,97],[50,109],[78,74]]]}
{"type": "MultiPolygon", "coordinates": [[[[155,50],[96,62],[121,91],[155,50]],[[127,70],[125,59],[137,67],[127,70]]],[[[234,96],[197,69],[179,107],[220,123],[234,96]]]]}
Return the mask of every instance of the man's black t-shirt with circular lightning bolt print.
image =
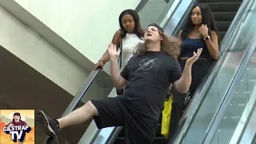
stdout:
{"type": "Polygon", "coordinates": [[[170,83],[181,78],[182,72],[178,61],[169,54],[149,51],[130,58],[121,75],[128,81],[122,95],[126,106],[134,114],[158,119],[170,83]]]}

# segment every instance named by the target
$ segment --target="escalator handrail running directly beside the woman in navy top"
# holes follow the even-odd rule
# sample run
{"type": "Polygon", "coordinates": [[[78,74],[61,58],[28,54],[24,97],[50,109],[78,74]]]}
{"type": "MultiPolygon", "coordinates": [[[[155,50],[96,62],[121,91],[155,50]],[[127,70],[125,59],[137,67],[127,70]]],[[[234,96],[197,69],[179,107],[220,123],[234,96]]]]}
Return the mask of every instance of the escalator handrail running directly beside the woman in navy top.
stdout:
{"type": "MultiPolygon", "coordinates": [[[[244,0],[242,2],[242,5],[240,6],[238,13],[235,15],[233,22],[231,22],[229,29],[227,30],[224,38],[222,39],[222,42],[221,42],[222,49],[220,50],[221,52],[219,53],[218,60],[214,61],[214,63],[216,63],[215,66],[211,65],[209,72],[206,74],[206,77],[202,80],[197,90],[195,91],[194,97],[190,100],[190,104],[187,106],[184,114],[182,114],[182,118],[178,122],[177,130],[174,134],[174,137],[170,139],[170,143],[180,142],[180,138],[182,137],[182,134],[184,134],[188,129],[188,127],[184,127],[188,125],[188,122],[189,122],[186,120],[191,119],[193,117],[193,114],[196,112],[196,110],[198,110],[199,103],[202,102],[203,100],[202,92],[204,91],[204,89],[206,89],[207,86],[211,86],[212,83],[214,82],[213,81],[214,77],[216,76],[217,71],[221,68],[221,64],[224,62],[227,52],[230,50],[230,47],[229,47],[230,43],[234,42],[234,38],[235,38],[234,33],[236,32],[236,30],[234,29],[238,27],[239,21],[242,19],[242,15],[248,5],[247,1],[248,0],[244,0]]],[[[183,17],[183,18],[185,19],[186,17],[183,17]]],[[[183,21],[181,20],[180,22],[184,22],[184,20],[183,21]]],[[[174,31],[174,35],[176,34],[178,35],[178,32],[179,32],[178,30],[174,31]]]]}

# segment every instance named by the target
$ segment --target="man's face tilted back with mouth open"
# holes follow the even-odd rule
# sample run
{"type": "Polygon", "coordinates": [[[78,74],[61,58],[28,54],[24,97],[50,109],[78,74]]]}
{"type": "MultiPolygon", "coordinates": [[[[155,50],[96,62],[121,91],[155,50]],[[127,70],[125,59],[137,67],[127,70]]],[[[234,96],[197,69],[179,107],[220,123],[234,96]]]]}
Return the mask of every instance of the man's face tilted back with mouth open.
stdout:
{"type": "Polygon", "coordinates": [[[149,26],[144,34],[144,40],[151,42],[158,42],[162,40],[162,36],[159,34],[158,28],[155,26],[149,26]]]}

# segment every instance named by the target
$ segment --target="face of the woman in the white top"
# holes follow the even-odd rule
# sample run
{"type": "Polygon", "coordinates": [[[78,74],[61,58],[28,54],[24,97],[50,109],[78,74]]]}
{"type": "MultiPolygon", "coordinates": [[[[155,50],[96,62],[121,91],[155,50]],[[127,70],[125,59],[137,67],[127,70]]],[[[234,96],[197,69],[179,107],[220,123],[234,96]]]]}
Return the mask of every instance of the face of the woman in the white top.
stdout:
{"type": "Polygon", "coordinates": [[[128,33],[134,33],[135,22],[133,16],[130,14],[125,14],[122,16],[122,26],[128,33]]]}

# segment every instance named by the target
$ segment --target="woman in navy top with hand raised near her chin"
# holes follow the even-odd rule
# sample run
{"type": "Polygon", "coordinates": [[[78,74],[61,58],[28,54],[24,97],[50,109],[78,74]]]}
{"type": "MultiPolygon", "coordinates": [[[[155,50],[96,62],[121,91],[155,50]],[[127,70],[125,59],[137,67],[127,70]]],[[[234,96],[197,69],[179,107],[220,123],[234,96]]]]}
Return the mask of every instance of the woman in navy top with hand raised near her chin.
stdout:
{"type": "Polygon", "coordinates": [[[190,16],[186,26],[178,34],[181,42],[179,63],[182,70],[186,60],[193,56],[198,48],[202,48],[202,54],[192,67],[192,82],[190,92],[186,94],[186,98],[173,90],[174,102],[172,103],[170,134],[174,133],[178,121],[182,117],[182,111],[186,109],[194,91],[207,74],[210,63],[218,58],[218,30],[210,7],[206,4],[198,4],[193,7],[190,16]]]}

